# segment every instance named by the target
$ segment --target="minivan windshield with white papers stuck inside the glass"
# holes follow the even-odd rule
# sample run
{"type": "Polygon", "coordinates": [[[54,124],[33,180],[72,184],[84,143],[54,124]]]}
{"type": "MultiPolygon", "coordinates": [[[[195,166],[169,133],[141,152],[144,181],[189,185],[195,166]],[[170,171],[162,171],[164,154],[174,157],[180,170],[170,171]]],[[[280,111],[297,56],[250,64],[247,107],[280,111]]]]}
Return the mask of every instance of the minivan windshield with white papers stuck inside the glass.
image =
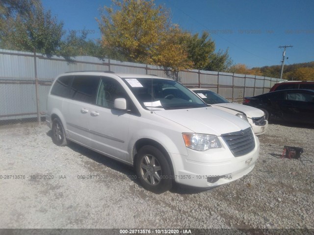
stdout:
{"type": "Polygon", "coordinates": [[[146,109],[188,109],[207,105],[179,82],[160,78],[124,78],[131,92],[146,109]]]}

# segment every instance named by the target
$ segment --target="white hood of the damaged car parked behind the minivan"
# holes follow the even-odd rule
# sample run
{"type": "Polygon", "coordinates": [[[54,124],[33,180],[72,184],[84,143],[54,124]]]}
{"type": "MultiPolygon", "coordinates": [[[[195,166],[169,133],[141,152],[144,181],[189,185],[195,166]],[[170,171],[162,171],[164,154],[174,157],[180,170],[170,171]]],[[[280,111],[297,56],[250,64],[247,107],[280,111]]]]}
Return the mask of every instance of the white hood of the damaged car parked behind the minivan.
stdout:
{"type": "MultiPolygon", "coordinates": [[[[211,104],[212,107],[222,107],[225,109],[231,109],[234,111],[239,111],[241,113],[244,113],[248,118],[261,118],[264,116],[264,112],[260,109],[243,105],[243,104],[236,104],[236,103],[221,103],[221,104],[211,104]]],[[[223,110],[223,109],[221,109],[223,110]]],[[[228,110],[226,110],[228,112],[228,110]]]]}

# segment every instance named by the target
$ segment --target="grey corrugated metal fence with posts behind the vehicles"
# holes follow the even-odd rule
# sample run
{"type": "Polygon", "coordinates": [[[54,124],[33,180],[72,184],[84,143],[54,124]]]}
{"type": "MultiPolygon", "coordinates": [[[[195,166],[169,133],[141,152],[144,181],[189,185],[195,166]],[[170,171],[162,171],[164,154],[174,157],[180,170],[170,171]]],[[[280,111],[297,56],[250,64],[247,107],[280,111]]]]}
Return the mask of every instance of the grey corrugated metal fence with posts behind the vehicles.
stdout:
{"type": "MultiPolygon", "coordinates": [[[[68,71],[114,71],[156,74],[167,77],[162,68],[91,56],[45,56],[31,52],[0,49],[0,124],[8,120],[43,117],[52,80],[68,71]],[[6,120],[6,121],[5,121],[6,120]]],[[[179,81],[187,87],[204,87],[232,100],[269,92],[281,81],[254,75],[214,71],[180,71],[179,81]]]]}

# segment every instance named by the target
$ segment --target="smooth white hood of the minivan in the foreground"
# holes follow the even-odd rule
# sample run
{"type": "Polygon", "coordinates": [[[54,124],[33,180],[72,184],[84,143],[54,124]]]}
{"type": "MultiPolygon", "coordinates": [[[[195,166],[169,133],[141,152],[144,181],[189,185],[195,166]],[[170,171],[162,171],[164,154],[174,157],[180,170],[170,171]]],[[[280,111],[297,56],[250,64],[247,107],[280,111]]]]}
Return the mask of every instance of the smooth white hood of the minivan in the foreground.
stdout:
{"type": "Polygon", "coordinates": [[[251,127],[247,121],[212,107],[158,110],[154,112],[163,118],[183,125],[195,133],[220,136],[251,127]]]}

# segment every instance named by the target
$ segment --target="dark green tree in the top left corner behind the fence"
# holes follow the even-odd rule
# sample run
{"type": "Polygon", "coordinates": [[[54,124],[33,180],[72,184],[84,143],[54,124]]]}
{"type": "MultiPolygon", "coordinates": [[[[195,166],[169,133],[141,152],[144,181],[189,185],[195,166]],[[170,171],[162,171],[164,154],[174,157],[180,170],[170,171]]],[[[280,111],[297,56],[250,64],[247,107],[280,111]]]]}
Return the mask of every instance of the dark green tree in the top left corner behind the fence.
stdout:
{"type": "Polygon", "coordinates": [[[1,0],[0,47],[53,54],[64,34],[63,22],[45,12],[40,0],[1,0]]]}

